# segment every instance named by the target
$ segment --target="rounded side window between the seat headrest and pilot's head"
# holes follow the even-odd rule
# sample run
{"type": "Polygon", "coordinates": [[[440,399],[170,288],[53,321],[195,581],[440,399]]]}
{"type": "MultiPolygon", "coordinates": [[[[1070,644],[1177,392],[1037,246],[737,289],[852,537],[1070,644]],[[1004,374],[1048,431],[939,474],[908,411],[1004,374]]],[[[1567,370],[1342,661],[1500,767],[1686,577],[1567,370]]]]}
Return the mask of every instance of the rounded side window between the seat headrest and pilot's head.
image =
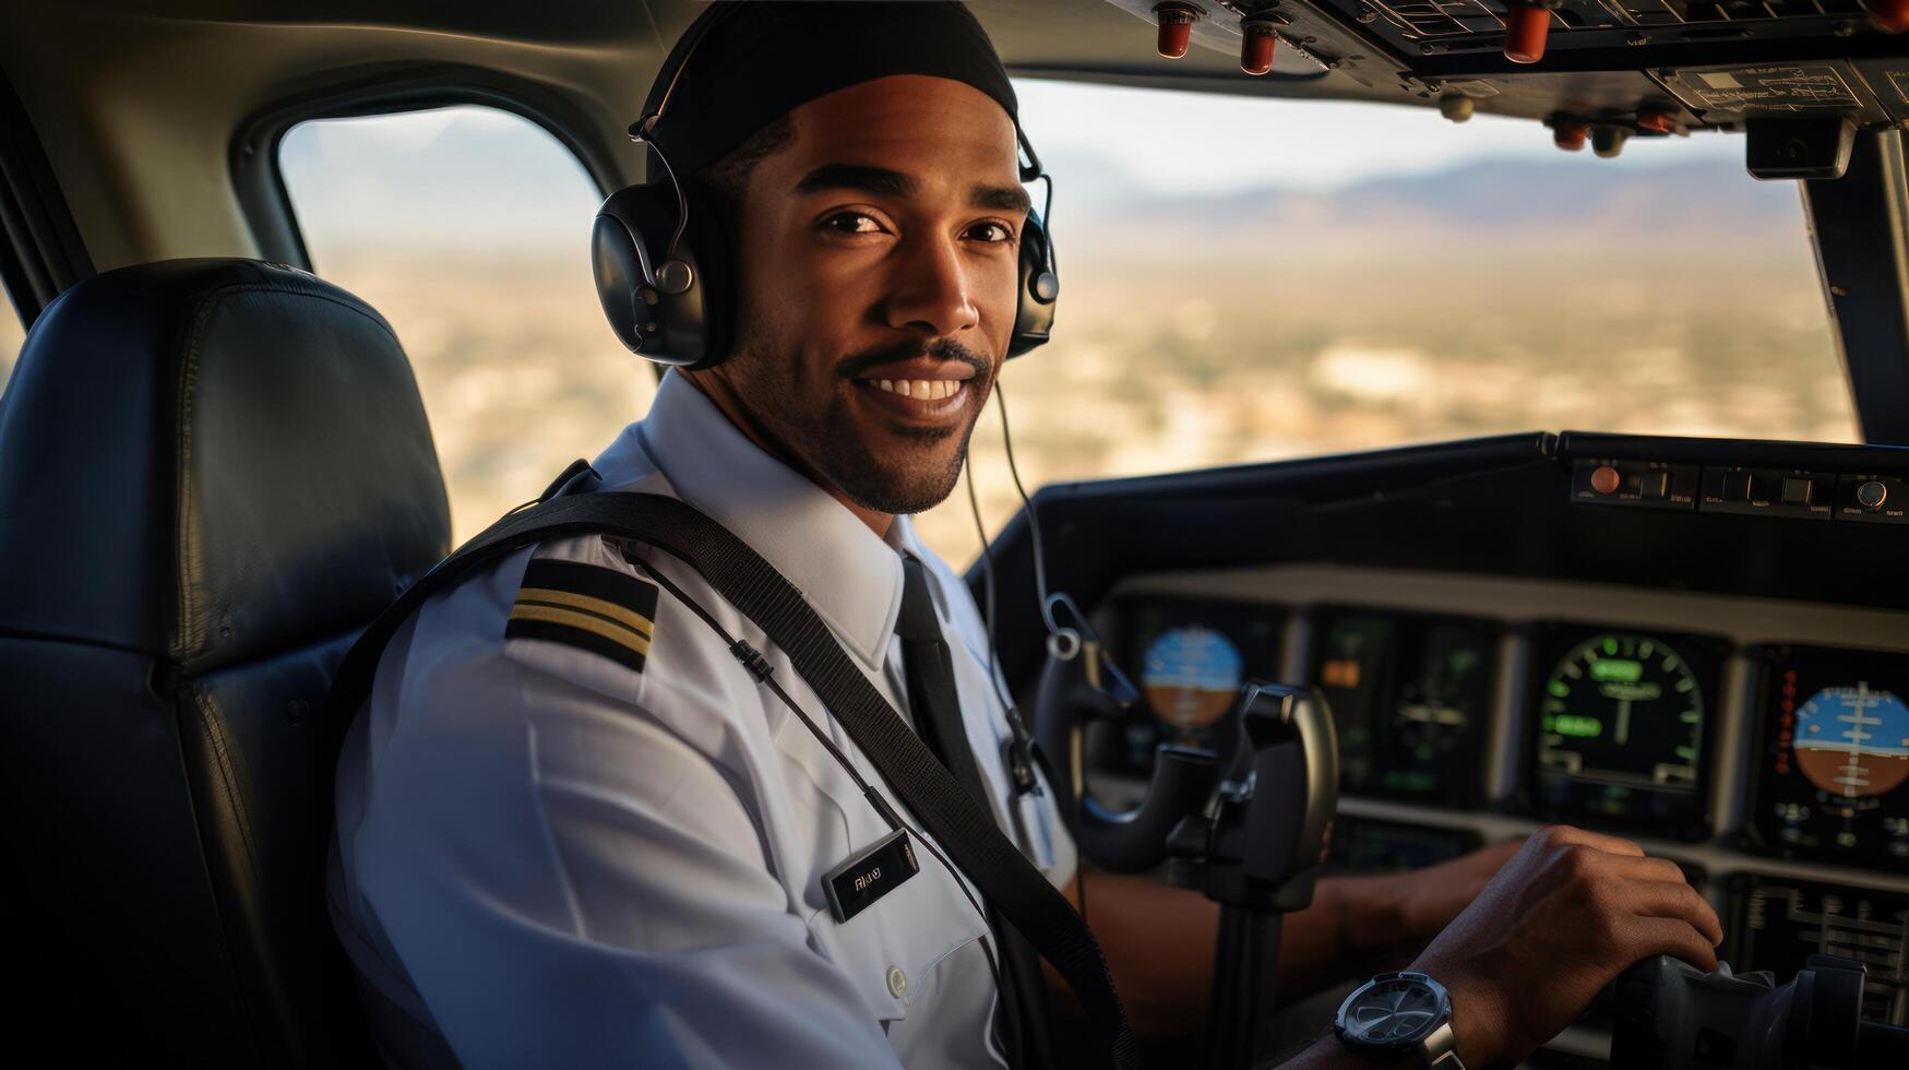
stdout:
{"type": "Polygon", "coordinates": [[[313,269],[382,311],[416,369],[452,539],[536,497],[649,409],[598,308],[577,157],[523,117],[449,107],[292,128],[279,168],[313,269]]]}

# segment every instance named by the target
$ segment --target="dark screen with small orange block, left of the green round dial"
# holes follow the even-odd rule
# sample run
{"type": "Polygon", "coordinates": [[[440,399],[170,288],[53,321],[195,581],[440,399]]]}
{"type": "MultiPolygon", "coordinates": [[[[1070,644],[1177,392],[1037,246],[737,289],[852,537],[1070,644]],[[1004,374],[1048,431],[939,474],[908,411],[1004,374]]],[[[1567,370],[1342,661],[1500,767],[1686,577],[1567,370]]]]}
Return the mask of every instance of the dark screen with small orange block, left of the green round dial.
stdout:
{"type": "Polygon", "coordinates": [[[1340,789],[1470,806],[1499,667],[1499,625],[1321,610],[1310,682],[1332,707],[1340,789]]]}

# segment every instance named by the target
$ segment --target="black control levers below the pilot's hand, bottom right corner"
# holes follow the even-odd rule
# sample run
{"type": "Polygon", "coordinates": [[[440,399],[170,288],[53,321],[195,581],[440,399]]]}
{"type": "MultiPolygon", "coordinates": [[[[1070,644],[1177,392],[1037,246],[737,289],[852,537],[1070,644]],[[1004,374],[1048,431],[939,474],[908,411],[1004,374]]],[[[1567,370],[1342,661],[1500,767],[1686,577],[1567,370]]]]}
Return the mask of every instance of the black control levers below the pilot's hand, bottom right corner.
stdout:
{"type": "Polygon", "coordinates": [[[1617,978],[1611,1066],[1857,1070],[1909,1066],[1909,1028],[1861,1020],[1867,967],[1810,955],[1796,978],[1655,955],[1617,978]]]}

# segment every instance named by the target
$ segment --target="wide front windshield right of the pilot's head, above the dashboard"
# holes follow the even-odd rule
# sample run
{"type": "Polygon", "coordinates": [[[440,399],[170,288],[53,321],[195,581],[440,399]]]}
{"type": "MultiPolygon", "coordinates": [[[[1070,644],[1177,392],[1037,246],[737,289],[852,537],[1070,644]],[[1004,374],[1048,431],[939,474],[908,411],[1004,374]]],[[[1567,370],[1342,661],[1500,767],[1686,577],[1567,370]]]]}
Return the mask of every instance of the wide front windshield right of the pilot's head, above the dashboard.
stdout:
{"type": "MultiPolygon", "coordinates": [[[[1743,138],[1021,80],[1054,340],[1002,374],[1029,489],[1518,430],[1857,441],[1793,182],[1743,138]]],[[[993,411],[991,527],[1017,501],[993,411]]],[[[979,550],[966,495],[922,518],[979,550]]]]}

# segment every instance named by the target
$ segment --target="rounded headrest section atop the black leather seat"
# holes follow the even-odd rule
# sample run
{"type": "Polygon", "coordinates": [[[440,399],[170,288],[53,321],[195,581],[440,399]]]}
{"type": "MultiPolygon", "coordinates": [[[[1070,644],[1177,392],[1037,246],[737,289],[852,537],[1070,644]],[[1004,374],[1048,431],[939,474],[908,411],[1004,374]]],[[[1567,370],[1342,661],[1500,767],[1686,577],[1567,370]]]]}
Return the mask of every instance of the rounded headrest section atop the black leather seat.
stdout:
{"type": "Polygon", "coordinates": [[[363,627],[449,548],[389,323],[305,271],[168,260],[53,300],[0,396],[0,629],[187,671],[363,627]]]}

